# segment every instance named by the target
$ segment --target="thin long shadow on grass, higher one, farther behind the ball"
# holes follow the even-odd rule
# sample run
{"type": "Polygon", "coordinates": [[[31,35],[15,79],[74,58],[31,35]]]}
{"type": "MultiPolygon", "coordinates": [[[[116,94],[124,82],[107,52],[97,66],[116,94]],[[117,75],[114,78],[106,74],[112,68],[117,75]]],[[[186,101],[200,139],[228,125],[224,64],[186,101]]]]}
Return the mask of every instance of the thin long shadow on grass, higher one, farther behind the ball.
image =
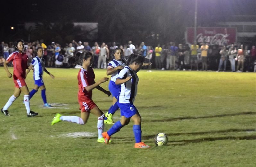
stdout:
{"type": "Polygon", "coordinates": [[[200,118],[215,118],[215,117],[228,117],[237,115],[255,115],[256,112],[239,112],[234,114],[220,114],[220,115],[210,115],[210,116],[199,116],[199,117],[177,117],[177,118],[167,118],[167,119],[156,119],[156,120],[143,120],[143,122],[167,122],[167,121],[180,121],[185,119],[200,119],[200,118]]]}

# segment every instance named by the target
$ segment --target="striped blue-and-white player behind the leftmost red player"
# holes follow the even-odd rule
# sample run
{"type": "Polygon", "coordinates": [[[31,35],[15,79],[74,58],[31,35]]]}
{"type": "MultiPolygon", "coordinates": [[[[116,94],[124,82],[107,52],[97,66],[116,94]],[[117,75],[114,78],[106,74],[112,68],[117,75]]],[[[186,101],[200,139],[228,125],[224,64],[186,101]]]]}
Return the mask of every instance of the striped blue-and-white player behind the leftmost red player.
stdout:
{"type": "MultiPolygon", "coordinates": [[[[45,94],[46,88],[45,88],[44,81],[43,81],[42,77],[43,77],[43,72],[46,72],[47,74],[49,74],[53,79],[54,79],[54,76],[46,70],[45,62],[42,59],[42,56],[43,56],[43,48],[38,47],[37,48],[37,56],[35,58],[33,58],[32,62],[31,62],[31,66],[34,67],[35,86],[29,93],[29,99],[31,99],[33,97],[33,95],[40,88],[42,99],[44,102],[44,107],[51,107],[51,105],[49,105],[46,101],[46,94],[45,94]]],[[[29,71],[27,71],[27,74],[28,74],[28,72],[29,71]]]]}

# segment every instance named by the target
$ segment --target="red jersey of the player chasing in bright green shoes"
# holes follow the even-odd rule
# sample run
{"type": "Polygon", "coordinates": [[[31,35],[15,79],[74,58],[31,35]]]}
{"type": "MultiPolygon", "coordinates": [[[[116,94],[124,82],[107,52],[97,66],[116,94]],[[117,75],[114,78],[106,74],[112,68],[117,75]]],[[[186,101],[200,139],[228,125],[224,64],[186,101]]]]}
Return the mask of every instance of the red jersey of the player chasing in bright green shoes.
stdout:
{"type": "Polygon", "coordinates": [[[95,74],[92,68],[85,70],[83,67],[79,70],[78,75],[78,100],[91,99],[92,91],[87,92],[84,87],[94,84],[95,74]]]}

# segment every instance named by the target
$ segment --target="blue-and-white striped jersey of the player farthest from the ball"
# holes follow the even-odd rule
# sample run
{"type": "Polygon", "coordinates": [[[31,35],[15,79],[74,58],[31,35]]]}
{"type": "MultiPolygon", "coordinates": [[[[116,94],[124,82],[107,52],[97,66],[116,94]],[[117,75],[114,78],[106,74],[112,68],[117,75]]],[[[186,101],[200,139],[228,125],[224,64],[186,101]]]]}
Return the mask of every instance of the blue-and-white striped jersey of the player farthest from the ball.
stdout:
{"type": "Polygon", "coordinates": [[[34,66],[34,79],[41,79],[45,68],[45,62],[41,58],[36,56],[35,58],[33,58],[31,64],[34,66]]]}

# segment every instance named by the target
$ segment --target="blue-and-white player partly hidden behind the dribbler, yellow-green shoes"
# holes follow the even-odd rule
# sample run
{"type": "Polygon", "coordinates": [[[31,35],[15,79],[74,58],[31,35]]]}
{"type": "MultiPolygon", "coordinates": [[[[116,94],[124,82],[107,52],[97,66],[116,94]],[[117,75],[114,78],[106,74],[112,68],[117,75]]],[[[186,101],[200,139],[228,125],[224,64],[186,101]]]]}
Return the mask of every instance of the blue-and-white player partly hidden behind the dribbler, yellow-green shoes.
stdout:
{"type": "Polygon", "coordinates": [[[116,48],[113,51],[113,55],[115,58],[112,61],[110,61],[107,66],[107,75],[111,75],[108,89],[113,96],[113,102],[111,107],[108,109],[108,112],[105,113],[104,123],[106,124],[114,124],[112,116],[115,113],[115,111],[119,109],[116,102],[117,102],[117,96],[119,95],[119,91],[121,89],[120,85],[115,84],[115,80],[119,72],[124,68],[126,64],[125,60],[122,59],[123,50],[121,48],[116,48]]]}

